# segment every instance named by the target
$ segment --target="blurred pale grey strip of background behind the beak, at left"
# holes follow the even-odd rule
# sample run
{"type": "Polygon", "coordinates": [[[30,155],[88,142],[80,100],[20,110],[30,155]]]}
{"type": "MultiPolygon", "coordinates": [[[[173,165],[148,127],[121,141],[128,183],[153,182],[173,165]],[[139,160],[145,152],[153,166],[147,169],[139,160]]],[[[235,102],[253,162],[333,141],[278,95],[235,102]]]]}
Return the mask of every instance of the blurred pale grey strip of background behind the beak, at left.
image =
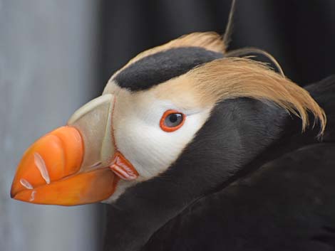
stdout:
{"type": "Polygon", "coordinates": [[[98,205],[9,198],[26,147],[98,95],[97,11],[88,0],[0,1],[0,250],[99,250],[98,205]]]}

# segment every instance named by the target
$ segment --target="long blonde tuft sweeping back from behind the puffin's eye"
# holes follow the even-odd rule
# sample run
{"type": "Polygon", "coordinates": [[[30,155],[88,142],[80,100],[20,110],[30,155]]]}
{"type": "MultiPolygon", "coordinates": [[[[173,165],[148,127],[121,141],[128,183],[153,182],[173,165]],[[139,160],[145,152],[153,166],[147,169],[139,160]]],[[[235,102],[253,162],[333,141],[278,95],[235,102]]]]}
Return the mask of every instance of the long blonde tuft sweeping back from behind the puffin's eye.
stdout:
{"type": "Polygon", "coordinates": [[[324,132],[326,115],[309,92],[264,63],[249,58],[222,58],[190,70],[185,77],[189,81],[184,81],[187,86],[182,88],[199,93],[202,103],[236,97],[269,100],[300,117],[303,131],[309,126],[310,112],[320,123],[320,134],[324,132]]]}

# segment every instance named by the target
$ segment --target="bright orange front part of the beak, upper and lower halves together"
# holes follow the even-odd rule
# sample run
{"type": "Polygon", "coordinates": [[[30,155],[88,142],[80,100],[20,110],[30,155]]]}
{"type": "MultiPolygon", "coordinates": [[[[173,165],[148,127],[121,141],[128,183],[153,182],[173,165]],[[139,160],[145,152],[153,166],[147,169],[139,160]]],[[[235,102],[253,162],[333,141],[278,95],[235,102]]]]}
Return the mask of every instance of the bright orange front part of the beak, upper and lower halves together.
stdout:
{"type": "Polygon", "coordinates": [[[24,153],[11,198],[36,204],[81,205],[109,198],[118,177],[108,167],[83,171],[84,144],[75,127],[60,127],[24,153]]]}

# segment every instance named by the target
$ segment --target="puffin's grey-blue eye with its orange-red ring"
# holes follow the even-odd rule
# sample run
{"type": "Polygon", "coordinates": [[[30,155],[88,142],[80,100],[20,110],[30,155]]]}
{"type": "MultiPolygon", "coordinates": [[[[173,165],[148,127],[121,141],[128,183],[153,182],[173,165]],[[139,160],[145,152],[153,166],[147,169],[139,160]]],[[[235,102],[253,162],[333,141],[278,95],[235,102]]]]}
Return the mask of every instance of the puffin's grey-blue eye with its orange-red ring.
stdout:
{"type": "Polygon", "coordinates": [[[168,110],[164,112],[160,119],[160,128],[165,132],[174,132],[182,127],[185,122],[185,115],[175,110],[168,110]]]}

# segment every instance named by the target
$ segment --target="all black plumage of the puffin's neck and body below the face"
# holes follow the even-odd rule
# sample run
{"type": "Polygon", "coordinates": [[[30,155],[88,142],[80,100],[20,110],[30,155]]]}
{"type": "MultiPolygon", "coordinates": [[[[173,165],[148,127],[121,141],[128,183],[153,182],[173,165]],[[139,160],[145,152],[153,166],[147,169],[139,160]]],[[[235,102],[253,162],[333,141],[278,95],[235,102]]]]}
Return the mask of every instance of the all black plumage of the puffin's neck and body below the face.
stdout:
{"type": "Polygon", "coordinates": [[[335,78],[306,87],[328,124],[225,100],[168,171],[108,208],[106,250],[334,250],[335,78]]]}

